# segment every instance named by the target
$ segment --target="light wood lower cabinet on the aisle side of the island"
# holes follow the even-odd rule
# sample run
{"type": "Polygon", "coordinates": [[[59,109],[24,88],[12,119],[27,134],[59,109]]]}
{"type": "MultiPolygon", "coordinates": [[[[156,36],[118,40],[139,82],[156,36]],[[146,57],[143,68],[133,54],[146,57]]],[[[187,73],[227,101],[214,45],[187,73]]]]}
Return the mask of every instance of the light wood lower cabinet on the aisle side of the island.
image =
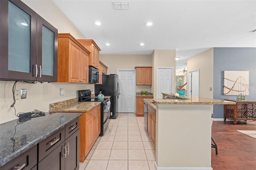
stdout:
{"type": "Polygon", "coordinates": [[[148,105],[148,135],[156,148],[156,111],[148,105]]]}

